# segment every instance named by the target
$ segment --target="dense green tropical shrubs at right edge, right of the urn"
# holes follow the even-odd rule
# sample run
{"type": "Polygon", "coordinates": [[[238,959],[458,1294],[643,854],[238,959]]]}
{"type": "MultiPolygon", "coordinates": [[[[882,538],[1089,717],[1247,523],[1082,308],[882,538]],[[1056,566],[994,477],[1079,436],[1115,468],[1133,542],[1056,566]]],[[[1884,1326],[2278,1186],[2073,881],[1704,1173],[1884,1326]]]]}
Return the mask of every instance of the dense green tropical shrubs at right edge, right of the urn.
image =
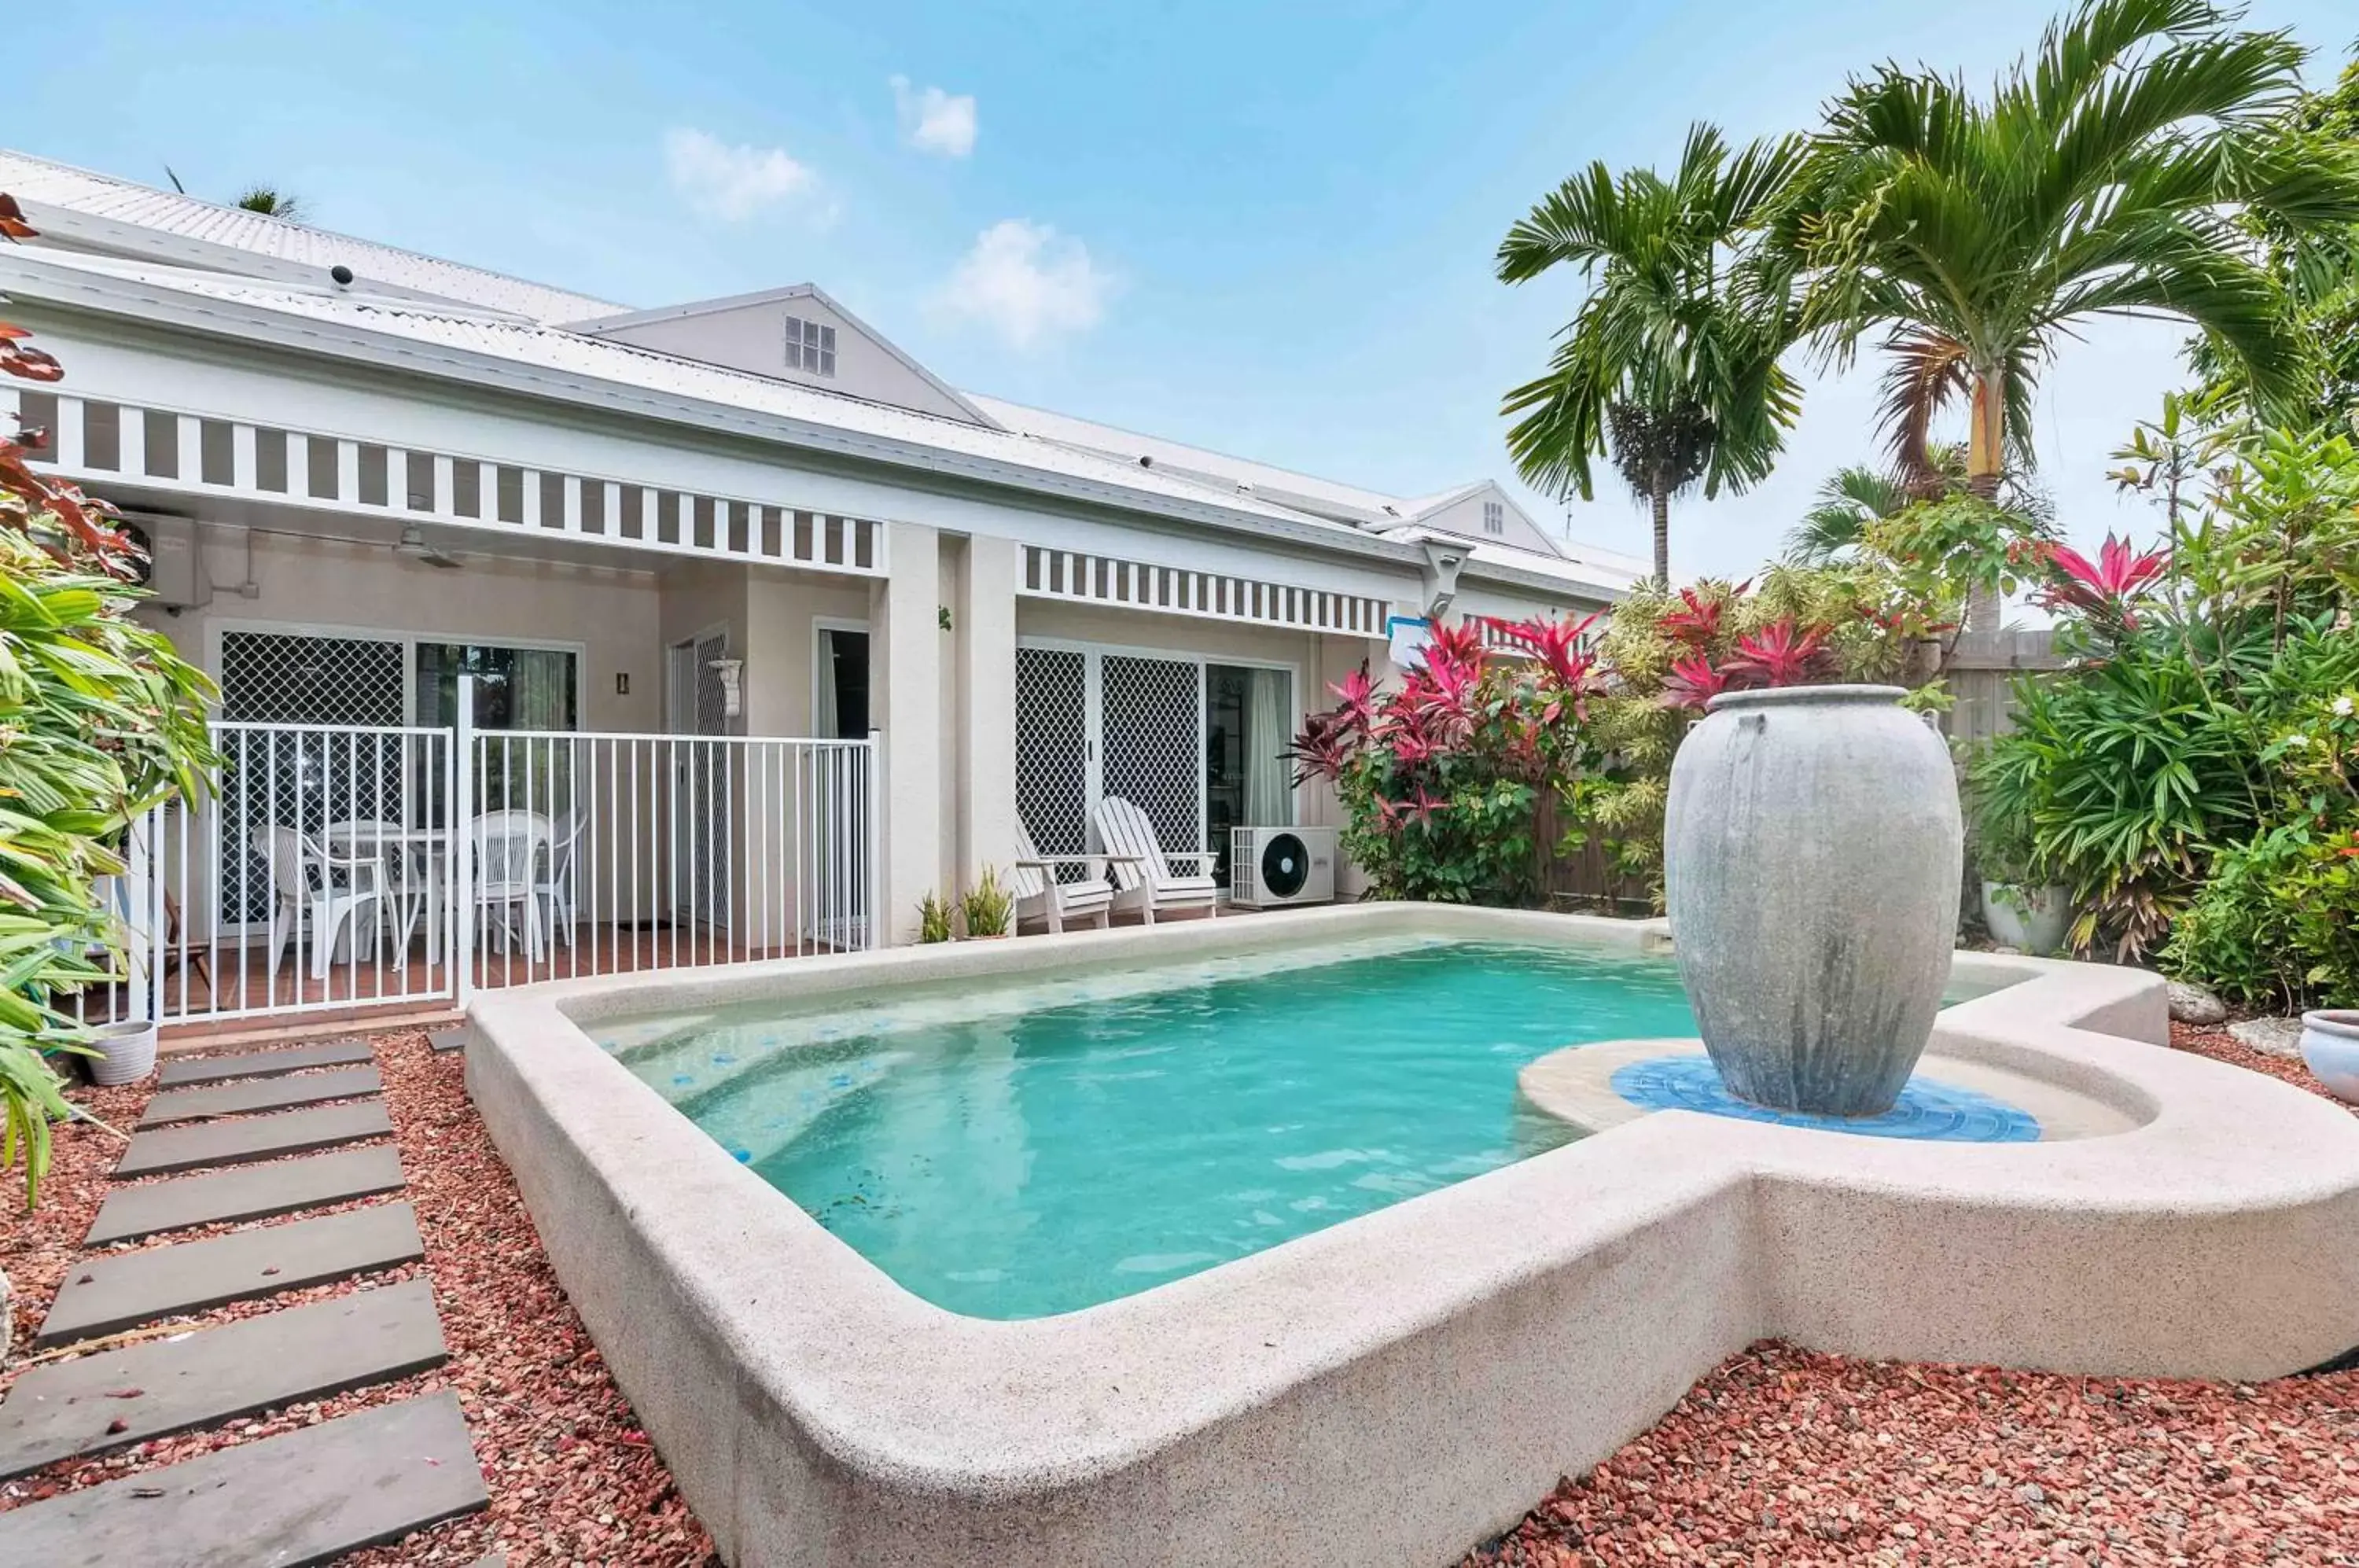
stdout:
{"type": "Polygon", "coordinates": [[[2125,472],[2166,549],[2041,549],[2076,663],[2019,684],[1977,816],[2071,887],[2081,948],[2158,950],[2248,1002],[2359,1002],[2359,448],[2177,413],[2125,472]]]}

